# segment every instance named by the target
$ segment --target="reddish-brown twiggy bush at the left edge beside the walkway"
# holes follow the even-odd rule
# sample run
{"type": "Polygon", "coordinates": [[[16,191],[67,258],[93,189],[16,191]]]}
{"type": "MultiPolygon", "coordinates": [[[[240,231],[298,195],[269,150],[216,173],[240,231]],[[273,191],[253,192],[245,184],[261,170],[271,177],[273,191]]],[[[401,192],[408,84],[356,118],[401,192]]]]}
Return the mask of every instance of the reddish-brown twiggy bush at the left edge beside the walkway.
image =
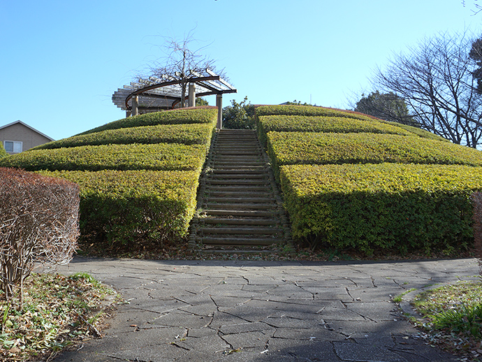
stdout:
{"type": "Polygon", "coordinates": [[[78,237],[79,189],[73,182],[0,168],[0,287],[7,299],[34,261],[68,263],[78,237]]]}

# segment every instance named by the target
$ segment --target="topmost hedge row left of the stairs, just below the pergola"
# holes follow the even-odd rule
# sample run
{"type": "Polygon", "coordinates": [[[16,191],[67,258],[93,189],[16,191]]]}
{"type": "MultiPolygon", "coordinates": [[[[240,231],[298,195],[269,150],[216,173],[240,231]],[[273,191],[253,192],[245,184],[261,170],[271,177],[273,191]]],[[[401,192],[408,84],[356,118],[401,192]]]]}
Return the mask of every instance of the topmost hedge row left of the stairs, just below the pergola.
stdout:
{"type": "Polygon", "coordinates": [[[87,133],[96,133],[105,131],[106,129],[120,129],[138,126],[155,126],[157,124],[192,124],[192,123],[209,123],[216,124],[217,108],[215,107],[196,107],[191,109],[165,110],[163,112],[145,113],[144,115],[136,115],[127,117],[122,120],[110,122],[103,126],[90,129],[79,133],[79,135],[87,133]]]}

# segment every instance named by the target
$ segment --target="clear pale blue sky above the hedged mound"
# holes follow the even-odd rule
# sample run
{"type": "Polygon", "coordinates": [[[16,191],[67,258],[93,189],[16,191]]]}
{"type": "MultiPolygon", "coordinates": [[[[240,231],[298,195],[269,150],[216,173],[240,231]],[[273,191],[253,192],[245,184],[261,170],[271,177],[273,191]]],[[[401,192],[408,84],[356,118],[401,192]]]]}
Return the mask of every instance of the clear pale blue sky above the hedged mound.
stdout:
{"type": "MultiPolygon", "coordinates": [[[[59,139],[118,120],[112,93],[189,30],[251,103],[346,108],[393,52],[439,31],[482,34],[467,0],[0,0],[0,126],[59,139]]],[[[215,99],[207,99],[214,105],[215,99]]]]}

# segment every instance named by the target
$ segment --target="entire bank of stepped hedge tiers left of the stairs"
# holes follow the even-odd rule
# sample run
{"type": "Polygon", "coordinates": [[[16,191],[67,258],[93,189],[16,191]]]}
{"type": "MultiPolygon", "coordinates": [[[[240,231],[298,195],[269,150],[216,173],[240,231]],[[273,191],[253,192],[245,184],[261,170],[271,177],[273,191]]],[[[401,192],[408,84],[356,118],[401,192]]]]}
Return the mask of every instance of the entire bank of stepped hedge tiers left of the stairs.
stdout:
{"type": "Polygon", "coordinates": [[[80,244],[132,252],[187,235],[217,108],[129,117],[0,160],[80,185],[80,244]],[[88,243],[88,244],[87,244],[88,243]]]}

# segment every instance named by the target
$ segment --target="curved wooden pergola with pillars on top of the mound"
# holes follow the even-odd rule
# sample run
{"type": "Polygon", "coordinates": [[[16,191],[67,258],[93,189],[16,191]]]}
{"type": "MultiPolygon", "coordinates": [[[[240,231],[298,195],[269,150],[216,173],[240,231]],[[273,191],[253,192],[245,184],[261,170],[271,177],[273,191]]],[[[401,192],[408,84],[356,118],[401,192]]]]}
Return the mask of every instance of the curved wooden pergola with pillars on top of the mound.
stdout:
{"type": "Polygon", "coordinates": [[[119,88],[112,94],[112,102],[126,111],[126,117],[130,117],[131,115],[158,112],[159,110],[181,108],[183,106],[193,107],[196,106],[196,97],[216,94],[216,106],[218,108],[217,127],[220,129],[222,126],[223,94],[236,93],[238,91],[210,69],[206,69],[204,75],[196,72],[192,73],[193,76],[189,78],[189,87],[186,89],[187,94],[184,94],[187,104],[181,104],[181,85],[185,80],[178,80],[168,76],[139,79],[138,82],[124,85],[124,88],[119,88]]]}

